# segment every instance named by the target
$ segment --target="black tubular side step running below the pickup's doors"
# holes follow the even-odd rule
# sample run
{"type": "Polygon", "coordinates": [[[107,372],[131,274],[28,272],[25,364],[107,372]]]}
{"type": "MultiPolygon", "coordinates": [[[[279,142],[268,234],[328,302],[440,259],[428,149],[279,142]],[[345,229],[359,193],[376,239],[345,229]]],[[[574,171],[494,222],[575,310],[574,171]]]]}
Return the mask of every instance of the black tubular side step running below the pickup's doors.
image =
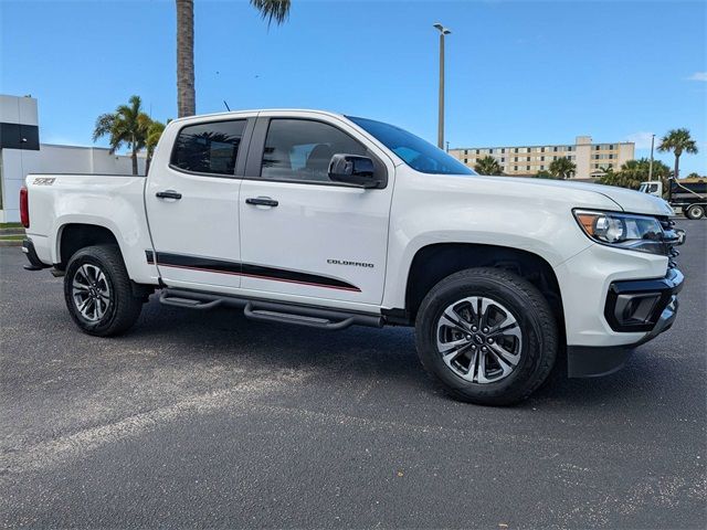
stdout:
{"type": "Polygon", "coordinates": [[[380,315],[365,315],[315,306],[253,300],[226,295],[192,293],[182,289],[162,289],[159,301],[166,306],[202,310],[220,306],[236,307],[242,308],[243,314],[252,320],[296,324],[319,329],[338,330],[354,325],[376,328],[383,326],[383,318],[380,315]]]}

